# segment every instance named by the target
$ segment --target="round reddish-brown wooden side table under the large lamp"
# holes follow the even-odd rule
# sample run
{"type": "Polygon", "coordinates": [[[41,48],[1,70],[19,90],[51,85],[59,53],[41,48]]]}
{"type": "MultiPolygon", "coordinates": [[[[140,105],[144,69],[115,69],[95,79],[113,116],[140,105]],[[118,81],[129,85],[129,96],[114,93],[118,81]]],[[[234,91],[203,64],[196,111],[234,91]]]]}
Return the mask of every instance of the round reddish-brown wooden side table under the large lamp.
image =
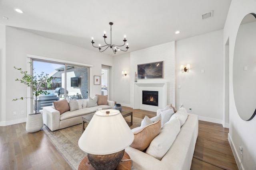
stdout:
{"type": "MultiPolygon", "coordinates": [[[[132,168],[132,160],[127,159],[130,159],[130,156],[128,155],[128,153],[124,152],[122,160],[126,161],[121,160],[115,170],[130,170],[132,168]]],[[[80,162],[78,170],[95,170],[90,164],[88,156],[85,156],[84,159],[80,162]]]]}

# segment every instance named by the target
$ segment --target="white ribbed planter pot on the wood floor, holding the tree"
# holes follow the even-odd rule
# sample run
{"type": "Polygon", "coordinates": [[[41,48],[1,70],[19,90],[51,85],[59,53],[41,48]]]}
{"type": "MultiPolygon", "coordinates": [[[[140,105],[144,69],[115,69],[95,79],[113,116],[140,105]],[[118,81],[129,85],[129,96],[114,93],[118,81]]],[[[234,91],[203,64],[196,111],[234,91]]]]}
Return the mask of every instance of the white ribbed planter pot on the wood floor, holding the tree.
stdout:
{"type": "Polygon", "coordinates": [[[37,132],[40,131],[43,126],[43,113],[39,113],[36,115],[27,115],[26,131],[28,131],[29,133],[37,132]]]}

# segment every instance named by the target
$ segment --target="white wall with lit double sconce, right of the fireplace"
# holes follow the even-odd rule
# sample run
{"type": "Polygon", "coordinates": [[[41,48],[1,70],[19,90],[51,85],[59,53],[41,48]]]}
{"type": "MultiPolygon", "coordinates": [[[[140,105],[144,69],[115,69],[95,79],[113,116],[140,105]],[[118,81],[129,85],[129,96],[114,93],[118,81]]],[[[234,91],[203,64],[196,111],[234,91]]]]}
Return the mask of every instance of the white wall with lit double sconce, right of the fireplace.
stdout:
{"type": "Polygon", "coordinates": [[[222,123],[223,112],[222,39],[220,30],[176,42],[176,107],[215,123],[222,123]],[[191,69],[182,73],[180,64],[188,63],[191,69]]]}

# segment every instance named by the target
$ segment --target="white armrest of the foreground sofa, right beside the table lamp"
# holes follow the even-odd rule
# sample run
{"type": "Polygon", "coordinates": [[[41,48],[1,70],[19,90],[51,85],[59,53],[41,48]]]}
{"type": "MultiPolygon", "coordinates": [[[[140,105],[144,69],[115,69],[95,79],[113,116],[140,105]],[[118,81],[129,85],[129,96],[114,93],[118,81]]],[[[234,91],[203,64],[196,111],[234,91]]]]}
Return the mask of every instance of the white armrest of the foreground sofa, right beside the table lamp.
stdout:
{"type": "MultiPolygon", "coordinates": [[[[133,147],[127,147],[125,151],[132,159],[132,170],[167,170],[168,164],[163,164],[161,160],[158,160],[145,152],[137,150],[133,147]]],[[[171,160],[170,160],[171,161],[171,160]]]]}

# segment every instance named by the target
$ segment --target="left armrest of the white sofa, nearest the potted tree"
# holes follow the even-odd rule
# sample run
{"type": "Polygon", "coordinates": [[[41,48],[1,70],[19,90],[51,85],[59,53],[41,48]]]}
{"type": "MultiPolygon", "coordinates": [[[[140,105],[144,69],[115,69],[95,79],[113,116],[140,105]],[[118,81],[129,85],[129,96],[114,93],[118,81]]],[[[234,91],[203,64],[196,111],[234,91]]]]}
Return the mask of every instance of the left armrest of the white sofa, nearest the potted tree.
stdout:
{"type": "Polygon", "coordinates": [[[43,107],[43,120],[44,124],[51,131],[60,129],[60,111],[54,109],[52,106],[43,107]]]}

